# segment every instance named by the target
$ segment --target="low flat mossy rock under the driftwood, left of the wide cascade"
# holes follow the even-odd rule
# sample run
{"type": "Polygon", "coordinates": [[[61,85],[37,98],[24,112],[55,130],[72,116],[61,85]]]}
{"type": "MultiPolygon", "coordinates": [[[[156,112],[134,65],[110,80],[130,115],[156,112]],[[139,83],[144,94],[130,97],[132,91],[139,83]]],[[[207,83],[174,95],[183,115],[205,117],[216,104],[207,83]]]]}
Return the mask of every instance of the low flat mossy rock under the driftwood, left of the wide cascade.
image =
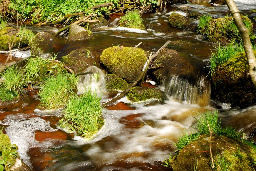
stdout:
{"type": "Polygon", "coordinates": [[[126,96],[127,99],[132,102],[145,101],[149,99],[155,99],[158,102],[168,100],[163,91],[151,87],[133,87],[126,96]]]}

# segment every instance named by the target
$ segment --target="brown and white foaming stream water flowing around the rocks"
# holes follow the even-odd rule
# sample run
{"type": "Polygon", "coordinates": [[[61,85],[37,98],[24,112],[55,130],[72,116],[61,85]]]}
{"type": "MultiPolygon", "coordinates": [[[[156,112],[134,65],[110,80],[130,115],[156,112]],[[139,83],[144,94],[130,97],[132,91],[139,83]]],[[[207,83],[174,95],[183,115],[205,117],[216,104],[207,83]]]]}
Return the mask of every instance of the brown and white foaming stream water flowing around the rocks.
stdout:
{"type": "MultiPolygon", "coordinates": [[[[255,0],[236,1],[242,14],[253,17],[250,9],[256,8],[255,0]]],[[[207,0],[196,0],[196,11],[210,14],[214,18],[229,14],[227,6],[210,4],[207,0]]],[[[190,63],[200,72],[196,83],[171,75],[163,80],[162,86],[148,86],[164,90],[169,100],[164,104],[146,102],[131,104],[123,97],[115,105],[104,108],[105,125],[98,135],[90,141],[82,141],[70,133],[56,128],[55,124],[62,117],[61,111],[53,113],[34,112],[39,103],[37,90],[25,92],[25,99],[19,103],[0,110],[1,124],[12,143],[19,147],[22,160],[34,170],[168,170],[163,163],[170,152],[175,151],[173,140],[184,132],[193,133],[195,118],[206,110],[219,109],[222,125],[231,125],[246,133],[249,139],[255,139],[256,107],[244,109],[231,108],[210,99],[210,84],[205,77],[209,54],[217,44],[209,43],[205,36],[195,30],[198,20],[193,20],[185,30],[170,28],[168,16],[172,10],[181,5],[168,6],[161,12],[145,14],[147,30],[125,29],[116,27],[118,19],[112,19],[109,28],[94,31],[95,38],[83,41],[67,42],[59,40],[47,47],[46,52],[58,53],[58,58],[77,48],[93,51],[98,58],[101,52],[112,45],[135,46],[142,42],[140,48],[146,51],[158,50],[167,40],[188,41],[188,44],[168,48],[177,50],[186,56],[190,63]]],[[[181,11],[177,13],[186,16],[181,11]]],[[[255,22],[255,20],[253,20],[255,22]]],[[[51,27],[30,27],[34,32],[57,32],[51,27]]],[[[21,53],[23,54],[23,53],[21,53]]],[[[18,54],[17,54],[18,55],[18,54]]],[[[20,55],[21,56],[21,55],[20,55]]],[[[13,60],[19,60],[19,57],[13,60]]],[[[26,52],[26,56],[29,56],[26,52]]],[[[0,54],[4,64],[7,55],[0,54]]],[[[104,72],[96,67],[89,68],[87,76],[80,78],[80,87],[90,84],[105,93],[102,100],[115,94],[106,94],[104,90],[104,72]]],[[[192,71],[193,72],[193,71],[192,71]]],[[[194,71],[197,72],[197,71],[194,71]]],[[[84,90],[79,89],[79,93],[84,90]]],[[[173,153],[174,154],[174,153],[173,153]]]]}

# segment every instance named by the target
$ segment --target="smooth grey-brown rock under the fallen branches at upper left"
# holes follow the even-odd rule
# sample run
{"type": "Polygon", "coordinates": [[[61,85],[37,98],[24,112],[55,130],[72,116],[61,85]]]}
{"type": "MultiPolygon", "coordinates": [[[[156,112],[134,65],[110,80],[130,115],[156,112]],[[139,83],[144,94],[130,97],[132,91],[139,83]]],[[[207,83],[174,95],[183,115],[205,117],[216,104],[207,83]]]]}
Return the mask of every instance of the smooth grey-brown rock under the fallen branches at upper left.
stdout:
{"type": "Polygon", "coordinates": [[[76,24],[71,24],[69,28],[68,41],[88,40],[91,38],[93,38],[93,33],[90,30],[76,24]]]}

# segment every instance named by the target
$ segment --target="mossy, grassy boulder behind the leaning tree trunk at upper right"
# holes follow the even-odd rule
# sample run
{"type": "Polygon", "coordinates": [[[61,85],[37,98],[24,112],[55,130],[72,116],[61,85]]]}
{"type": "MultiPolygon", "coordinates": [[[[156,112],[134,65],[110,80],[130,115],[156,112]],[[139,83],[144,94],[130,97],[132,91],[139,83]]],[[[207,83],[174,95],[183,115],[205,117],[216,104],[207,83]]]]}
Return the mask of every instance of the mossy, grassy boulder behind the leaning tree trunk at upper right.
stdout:
{"type": "MultiPolygon", "coordinates": [[[[249,29],[249,34],[253,34],[252,22],[247,16],[241,16],[245,26],[249,29]]],[[[204,29],[198,30],[199,33],[207,35],[210,42],[241,42],[241,35],[233,21],[233,17],[210,19],[204,29]]]]}

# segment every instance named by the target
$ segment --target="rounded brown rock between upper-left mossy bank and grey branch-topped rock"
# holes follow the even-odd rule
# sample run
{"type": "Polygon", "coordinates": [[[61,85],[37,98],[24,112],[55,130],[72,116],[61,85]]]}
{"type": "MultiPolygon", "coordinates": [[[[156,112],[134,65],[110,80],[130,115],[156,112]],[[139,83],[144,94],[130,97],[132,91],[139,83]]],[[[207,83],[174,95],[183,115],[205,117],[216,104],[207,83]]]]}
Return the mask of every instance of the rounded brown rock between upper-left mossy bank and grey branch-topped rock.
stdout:
{"type": "Polygon", "coordinates": [[[43,54],[46,50],[50,51],[54,49],[55,47],[52,45],[56,41],[58,41],[58,38],[48,32],[41,31],[37,33],[29,42],[31,55],[38,56],[43,54]]]}

